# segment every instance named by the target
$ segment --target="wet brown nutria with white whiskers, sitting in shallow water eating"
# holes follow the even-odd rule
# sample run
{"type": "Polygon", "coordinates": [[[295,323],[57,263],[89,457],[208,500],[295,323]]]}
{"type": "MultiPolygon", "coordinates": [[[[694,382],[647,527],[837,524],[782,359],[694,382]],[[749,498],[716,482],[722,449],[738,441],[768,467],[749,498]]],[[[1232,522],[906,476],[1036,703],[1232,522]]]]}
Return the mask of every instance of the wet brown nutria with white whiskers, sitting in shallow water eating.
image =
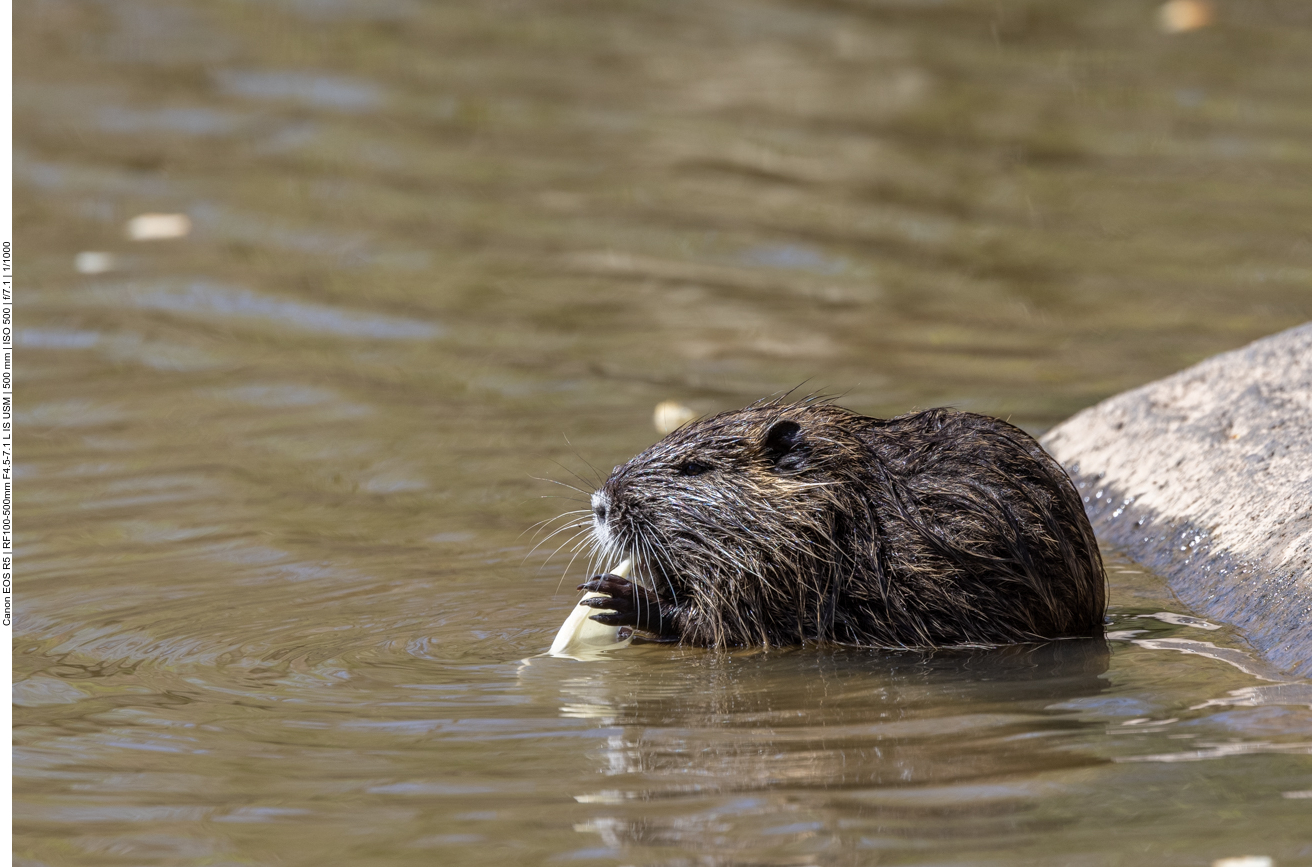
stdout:
{"type": "Polygon", "coordinates": [[[686,425],[592,497],[584,603],[689,644],[874,647],[1101,636],[1080,496],[1025,432],[930,409],[867,418],[758,403],[686,425]]]}

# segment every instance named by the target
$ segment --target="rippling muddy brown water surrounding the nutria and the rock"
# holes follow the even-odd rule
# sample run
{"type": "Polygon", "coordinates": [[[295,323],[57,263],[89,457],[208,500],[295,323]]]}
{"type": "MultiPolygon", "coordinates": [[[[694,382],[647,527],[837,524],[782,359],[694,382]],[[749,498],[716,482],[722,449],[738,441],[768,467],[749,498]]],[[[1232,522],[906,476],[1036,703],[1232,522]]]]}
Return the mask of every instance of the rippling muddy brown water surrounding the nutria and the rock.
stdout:
{"type": "Polygon", "coordinates": [[[18,863],[1312,863],[1312,689],[1114,551],[1106,644],[525,662],[660,400],[1039,432],[1312,317],[1308,5],[1156,14],[14,4],[18,863]]]}

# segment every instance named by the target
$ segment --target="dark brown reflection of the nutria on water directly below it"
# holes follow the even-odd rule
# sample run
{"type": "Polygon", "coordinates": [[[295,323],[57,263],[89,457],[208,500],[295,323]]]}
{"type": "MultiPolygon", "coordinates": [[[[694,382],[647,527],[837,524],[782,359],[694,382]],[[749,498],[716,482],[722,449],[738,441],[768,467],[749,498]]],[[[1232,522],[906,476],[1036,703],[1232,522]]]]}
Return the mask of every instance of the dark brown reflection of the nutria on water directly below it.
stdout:
{"type": "MultiPolygon", "coordinates": [[[[621,729],[602,757],[609,775],[691,775],[716,791],[775,782],[928,784],[962,774],[939,749],[989,756],[980,744],[1033,731],[1033,711],[1042,716],[1047,703],[1102,691],[1109,661],[1103,641],[933,656],[851,651],[820,660],[808,651],[685,652],[644,672],[640,687],[611,666],[562,681],[562,715],[621,729]]],[[[993,753],[988,761],[1008,758],[993,753]]],[[[1006,770],[975,767],[970,775],[1006,770]]]]}

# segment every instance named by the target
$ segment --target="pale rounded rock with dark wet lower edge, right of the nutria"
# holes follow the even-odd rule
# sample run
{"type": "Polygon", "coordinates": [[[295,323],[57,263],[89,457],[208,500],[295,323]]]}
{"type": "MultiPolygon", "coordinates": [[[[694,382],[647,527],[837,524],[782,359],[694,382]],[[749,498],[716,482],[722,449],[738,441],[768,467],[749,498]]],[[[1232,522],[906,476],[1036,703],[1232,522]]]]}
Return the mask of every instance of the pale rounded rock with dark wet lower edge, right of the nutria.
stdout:
{"type": "Polygon", "coordinates": [[[1312,323],[1110,397],[1042,442],[1101,539],[1312,675],[1312,323]]]}

